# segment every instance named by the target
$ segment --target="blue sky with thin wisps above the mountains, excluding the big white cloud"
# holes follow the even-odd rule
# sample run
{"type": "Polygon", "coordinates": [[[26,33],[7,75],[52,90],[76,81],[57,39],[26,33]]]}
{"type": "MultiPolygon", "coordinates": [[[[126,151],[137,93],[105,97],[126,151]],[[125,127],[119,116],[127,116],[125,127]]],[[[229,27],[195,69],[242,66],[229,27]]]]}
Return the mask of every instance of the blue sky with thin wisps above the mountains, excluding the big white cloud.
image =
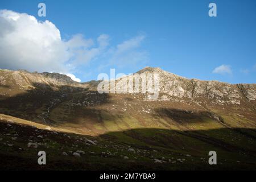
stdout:
{"type": "MultiPolygon", "coordinates": [[[[256,80],[254,0],[2,0],[0,9],[26,13],[42,22],[49,20],[64,42],[76,35],[73,40],[86,42],[81,50],[81,45],[74,48],[82,52],[80,56],[73,51],[73,57],[68,58],[73,61],[63,63],[72,65],[69,72],[82,81],[96,80],[100,73],[110,74],[110,68],[128,74],[146,66],[201,80],[231,83],[256,80]],[[46,4],[46,17],[38,16],[39,2],[46,4]],[[217,5],[217,17],[208,16],[210,2],[217,5]],[[96,53],[88,55],[85,51],[96,53]]],[[[36,66],[23,65],[29,71],[40,71],[34,70],[36,66]]],[[[22,68],[18,64],[0,66],[22,68]]]]}

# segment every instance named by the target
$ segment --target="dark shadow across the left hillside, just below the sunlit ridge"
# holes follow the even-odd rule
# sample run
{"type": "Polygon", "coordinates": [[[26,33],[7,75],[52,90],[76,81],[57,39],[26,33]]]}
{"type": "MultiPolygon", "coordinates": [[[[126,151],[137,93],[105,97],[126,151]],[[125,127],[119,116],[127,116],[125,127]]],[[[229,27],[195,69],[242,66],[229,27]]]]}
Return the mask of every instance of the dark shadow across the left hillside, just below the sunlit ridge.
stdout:
{"type": "MultiPolygon", "coordinates": [[[[49,86],[38,82],[33,83],[32,86],[30,90],[15,96],[0,96],[1,113],[39,122],[44,117],[48,117],[49,110],[66,101],[71,101],[71,104],[67,105],[68,108],[109,102],[109,94],[100,94],[88,88],[68,85],[49,86]]],[[[47,120],[54,123],[49,118],[47,120]]]]}

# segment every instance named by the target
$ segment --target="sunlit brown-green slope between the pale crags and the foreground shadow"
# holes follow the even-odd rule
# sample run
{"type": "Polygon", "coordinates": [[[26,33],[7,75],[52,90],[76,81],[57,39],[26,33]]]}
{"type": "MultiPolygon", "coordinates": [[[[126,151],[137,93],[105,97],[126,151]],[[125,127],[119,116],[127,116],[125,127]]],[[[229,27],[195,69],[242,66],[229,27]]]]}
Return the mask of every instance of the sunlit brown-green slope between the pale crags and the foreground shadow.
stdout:
{"type": "Polygon", "coordinates": [[[49,119],[61,127],[94,135],[138,128],[183,131],[256,127],[256,115],[250,110],[243,111],[232,106],[219,108],[193,103],[143,101],[137,97],[139,96],[109,94],[102,104],[86,107],[76,105],[72,112],[66,101],[51,110],[49,119]]]}

